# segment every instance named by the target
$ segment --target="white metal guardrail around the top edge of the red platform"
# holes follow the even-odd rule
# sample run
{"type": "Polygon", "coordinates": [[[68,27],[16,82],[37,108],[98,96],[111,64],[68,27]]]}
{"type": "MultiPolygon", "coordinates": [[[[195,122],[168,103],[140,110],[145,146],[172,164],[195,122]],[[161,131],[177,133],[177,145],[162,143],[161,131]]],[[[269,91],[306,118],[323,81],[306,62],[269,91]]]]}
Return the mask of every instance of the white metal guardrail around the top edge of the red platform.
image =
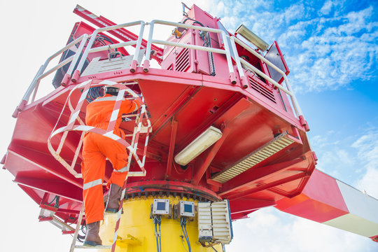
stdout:
{"type": "Polygon", "coordinates": [[[92,52],[109,50],[109,48],[115,49],[115,48],[120,48],[120,47],[124,47],[124,46],[128,46],[128,45],[135,45],[136,49],[135,49],[134,57],[132,59],[132,63],[130,65],[130,71],[134,72],[137,68],[139,52],[141,50],[141,42],[142,42],[142,39],[143,39],[144,28],[145,28],[146,25],[150,25],[150,30],[149,30],[149,34],[148,34],[148,40],[147,40],[146,56],[145,56],[144,64],[143,64],[143,70],[145,72],[148,72],[148,70],[150,68],[152,44],[169,45],[169,46],[176,46],[176,47],[179,47],[179,48],[202,50],[202,51],[215,52],[215,53],[220,53],[220,54],[225,55],[225,57],[227,59],[227,63],[228,63],[228,70],[230,71],[231,83],[236,84],[237,80],[236,80],[236,75],[235,75],[234,66],[232,64],[232,57],[231,57],[231,55],[236,55],[235,56],[235,62],[237,64],[237,70],[239,72],[240,80],[243,83],[243,86],[248,87],[248,79],[244,75],[244,71],[243,71],[243,68],[242,68],[241,65],[248,67],[249,69],[251,69],[252,71],[257,73],[258,75],[262,76],[262,78],[269,80],[269,82],[272,83],[272,85],[274,85],[275,87],[279,88],[280,90],[282,90],[283,92],[288,94],[290,96],[290,99],[291,99],[291,102],[293,104],[293,108],[295,110],[297,118],[299,118],[300,123],[302,125],[306,125],[306,122],[305,122],[303,115],[302,115],[302,110],[300,109],[300,106],[297,102],[297,99],[296,99],[295,94],[293,92],[293,89],[292,89],[292,87],[289,83],[289,80],[286,76],[286,73],[284,73],[283,71],[281,71],[281,69],[279,69],[277,66],[272,64],[272,62],[269,62],[269,60],[265,59],[265,57],[262,57],[262,55],[260,55],[258,52],[253,50],[250,46],[246,45],[246,43],[244,43],[243,41],[239,40],[239,38],[237,38],[235,36],[228,36],[225,33],[225,31],[223,31],[221,29],[214,29],[214,28],[202,27],[202,26],[196,26],[196,25],[187,25],[187,24],[178,23],[178,22],[167,22],[167,21],[163,21],[163,20],[153,20],[150,23],[145,23],[144,21],[139,20],[139,21],[135,21],[135,22],[125,23],[125,24],[122,24],[122,25],[113,25],[111,27],[99,28],[99,29],[96,29],[90,36],[85,34],[83,36],[80,36],[80,38],[76,39],[75,41],[72,41],[71,43],[66,45],[64,48],[62,48],[61,50],[56,52],[54,55],[49,57],[48,60],[45,62],[45,64],[43,66],[41,66],[41,69],[39,69],[39,71],[36,74],[36,77],[31,82],[29,89],[27,90],[25,96],[22,99],[22,102],[20,102],[20,105],[16,109],[13,116],[17,117],[18,112],[21,111],[26,106],[27,102],[29,101],[29,97],[31,95],[31,92],[33,92],[33,91],[34,91],[34,96],[33,96],[32,100],[34,101],[36,90],[38,90],[39,81],[42,78],[44,78],[45,76],[47,76],[48,74],[52,73],[52,71],[59,69],[59,67],[62,67],[65,64],[69,64],[71,62],[70,66],[69,66],[69,71],[67,71],[66,75],[64,76],[64,78],[62,80],[62,85],[66,85],[66,83],[69,83],[69,80],[72,80],[72,82],[76,82],[78,80],[78,78],[80,77],[81,71],[83,70],[83,66],[84,66],[85,60],[87,59],[87,55],[92,53],[92,52]],[[136,25],[140,25],[139,36],[138,36],[137,40],[127,41],[127,42],[122,42],[122,43],[116,43],[116,44],[111,44],[111,45],[104,45],[104,46],[97,47],[97,48],[92,48],[92,45],[95,41],[95,38],[96,38],[97,34],[99,34],[100,32],[116,30],[116,29],[125,28],[125,27],[133,27],[133,26],[136,26],[136,25]],[[172,41],[161,41],[161,40],[153,39],[155,25],[167,25],[167,26],[172,26],[172,27],[182,27],[182,28],[185,28],[185,29],[193,29],[193,30],[207,31],[207,32],[213,32],[213,33],[216,33],[216,34],[220,34],[223,41],[225,41],[224,50],[218,49],[218,48],[210,48],[210,47],[201,46],[201,45],[190,45],[190,44],[186,44],[186,43],[178,43],[178,42],[172,42],[172,41]],[[85,50],[83,51],[83,47],[85,45],[85,41],[87,41],[87,38],[90,38],[90,41],[88,41],[87,46],[86,46],[85,50]],[[48,62],[50,62],[50,60],[53,57],[56,57],[57,55],[62,53],[64,50],[71,48],[72,45],[75,45],[76,43],[78,43],[80,41],[81,41],[80,46],[79,46],[75,55],[65,59],[64,61],[57,64],[57,66],[54,66],[52,69],[50,69],[50,70],[48,70],[44,73],[48,62]],[[230,41],[230,45],[227,41],[230,41]],[[267,76],[267,74],[263,73],[262,71],[257,69],[252,64],[249,64],[248,62],[246,62],[246,60],[240,58],[239,54],[237,53],[237,48],[236,48],[235,43],[238,43],[243,48],[245,48],[246,50],[251,52],[253,55],[255,55],[256,57],[261,59],[262,62],[265,62],[269,66],[272,66],[272,68],[274,70],[278,71],[281,74],[281,76],[283,76],[283,79],[285,80],[285,83],[286,83],[286,87],[284,87],[283,85],[280,85],[275,80],[273,80],[272,78],[267,76]],[[80,55],[81,55],[81,57],[80,57],[80,55]],[[78,61],[79,57],[80,57],[80,61],[78,62],[78,66],[76,67],[76,70],[72,73],[73,67],[76,65],[76,62],[78,61]]]}

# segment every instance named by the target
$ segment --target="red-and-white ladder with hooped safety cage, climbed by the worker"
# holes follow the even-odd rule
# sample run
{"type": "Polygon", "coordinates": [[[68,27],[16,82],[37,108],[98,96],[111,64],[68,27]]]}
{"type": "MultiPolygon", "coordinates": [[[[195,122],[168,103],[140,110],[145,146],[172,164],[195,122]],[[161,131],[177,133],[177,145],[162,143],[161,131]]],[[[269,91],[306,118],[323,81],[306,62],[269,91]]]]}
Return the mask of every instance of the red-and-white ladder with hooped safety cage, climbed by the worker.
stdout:
{"type": "MultiPolygon", "coordinates": [[[[151,122],[148,118],[148,113],[146,111],[146,105],[144,104],[144,98],[142,97],[143,104],[139,108],[137,115],[133,114],[133,115],[127,115],[126,116],[126,117],[135,117],[135,119],[134,119],[135,120],[134,132],[133,132],[132,135],[127,135],[128,137],[132,136],[131,144],[128,144],[127,141],[125,141],[124,139],[121,139],[117,135],[113,134],[113,130],[114,130],[114,126],[116,124],[116,118],[117,118],[117,115],[113,115],[113,113],[118,113],[118,111],[120,109],[120,103],[121,103],[121,100],[124,97],[125,92],[128,92],[133,97],[137,97],[137,94],[135,94],[134,91],[130,90],[130,88],[125,87],[125,85],[121,85],[121,84],[118,84],[118,83],[115,83],[115,82],[112,82],[112,81],[109,81],[109,80],[102,80],[99,83],[93,83],[93,82],[94,82],[94,80],[87,80],[84,83],[80,83],[79,85],[76,85],[76,87],[74,87],[73,90],[71,90],[71,92],[69,93],[69,96],[66,99],[66,104],[64,104],[64,107],[62,109],[62,113],[63,113],[64,108],[68,104],[69,109],[71,110],[71,116],[69,118],[69,123],[66,126],[60,127],[57,130],[55,130],[57,125],[55,125],[55,127],[52,130],[52,133],[51,133],[51,135],[48,139],[48,148],[49,148],[50,153],[64,167],[66,167],[66,169],[73,176],[75,176],[76,178],[81,178],[82,177],[81,174],[78,174],[74,170],[74,167],[76,165],[78,153],[80,152],[80,148],[83,144],[83,137],[84,137],[85,132],[94,132],[94,133],[97,133],[97,134],[102,134],[104,137],[109,137],[109,138],[111,138],[115,141],[118,141],[120,144],[123,144],[125,146],[125,148],[127,148],[129,150],[130,153],[129,153],[127,167],[126,167],[127,168],[126,170],[128,172],[127,177],[129,177],[129,176],[146,176],[146,169],[144,169],[144,164],[146,162],[148,137],[149,137],[149,133],[151,132],[152,127],[151,127],[151,122]],[[101,85],[113,85],[113,86],[120,88],[120,92],[118,93],[118,97],[117,97],[116,103],[114,105],[113,113],[112,113],[112,116],[111,116],[111,118],[114,118],[114,120],[112,119],[109,122],[109,127],[108,127],[108,130],[106,130],[106,131],[85,125],[85,123],[83,123],[83,120],[81,120],[80,117],[78,116],[80,109],[81,109],[81,106],[83,105],[83,102],[85,101],[85,97],[87,96],[87,93],[88,93],[90,87],[101,86],[101,85]],[[78,104],[76,105],[76,108],[73,109],[70,97],[71,97],[71,94],[73,93],[73,91],[78,89],[78,88],[83,89],[83,93],[80,96],[80,99],[78,101],[78,104]],[[76,121],[78,121],[80,123],[80,125],[75,125],[76,121]],[[147,125],[143,125],[143,122],[147,123],[147,125]],[[68,162],[66,162],[60,156],[60,152],[62,151],[62,148],[64,146],[64,141],[66,140],[66,136],[67,136],[69,131],[80,131],[80,132],[82,132],[81,137],[80,137],[80,141],[79,141],[78,147],[76,148],[76,152],[75,152],[75,155],[73,157],[73,161],[71,162],[71,165],[68,162]],[[58,148],[55,150],[55,148],[52,147],[51,139],[52,139],[52,137],[55,137],[57,134],[62,134],[62,138],[60,139],[58,148]],[[139,156],[137,155],[137,149],[138,149],[140,134],[146,134],[146,139],[145,139],[145,143],[144,143],[144,152],[143,152],[142,158],[139,158],[139,156]],[[134,157],[134,160],[137,161],[137,164],[139,165],[141,172],[129,172],[132,157],[134,157]]],[[[60,116],[62,116],[62,113],[61,113],[60,116]]],[[[60,118],[60,116],[59,116],[59,118],[60,118]]],[[[59,119],[57,121],[57,124],[58,123],[59,123],[59,119]]],[[[125,182],[127,181],[127,177],[126,177],[125,182]]],[[[125,193],[126,193],[126,183],[124,183],[124,186],[123,186],[123,191],[122,191],[122,195],[120,197],[120,202],[123,202],[123,200],[125,198],[125,193]]],[[[81,245],[76,245],[76,240],[77,240],[77,237],[78,237],[78,231],[80,230],[81,222],[83,221],[83,214],[84,214],[84,204],[83,204],[83,206],[80,210],[80,214],[78,216],[78,221],[77,221],[76,229],[75,229],[75,232],[74,232],[74,235],[73,235],[73,241],[72,241],[72,244],[71,244],[70,252],[73,252],[75,250],[75,248],[111,249],[111,251],[114,252],[116,250],[116,241],[117,241],[117,237],[118,237],[118,228],[119,228],[119,224],[120,224],[120,215],[122,214],[122,209],[123,209],[123,204],[120,203],[120,208],[118,209],[118,218],[117,218],[117,222],[116,222],[116,228],[115,228],[115,231],[114,231],[113,244],[111,246],[106,246],[106,245],[92,246],[92,247],[91,246],[81,246],[81,245]]]]}

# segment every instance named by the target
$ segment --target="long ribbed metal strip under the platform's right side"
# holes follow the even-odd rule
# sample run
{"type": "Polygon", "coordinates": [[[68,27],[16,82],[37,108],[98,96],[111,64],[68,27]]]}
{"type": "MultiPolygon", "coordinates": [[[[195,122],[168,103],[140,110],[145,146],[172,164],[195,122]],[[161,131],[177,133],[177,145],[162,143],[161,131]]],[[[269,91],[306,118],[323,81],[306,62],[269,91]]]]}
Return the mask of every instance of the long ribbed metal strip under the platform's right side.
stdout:
{"type": "Polygon", "coordinates": [[[271,141],[267,142],[257,150],[253,151],[250,155],[247,155],[246,158],[239,161],[236,165],[232,166],[230,169],[216,174],[212,179],[220,183],[225,183],[235,176],[245,172],[247,169],[257,165],[262,160],[269,158],[270,156],[278,153],[283,148],[286,148],[290,144],[293,144],[295,141],[290,137],[288,132],[283,132],[279,136],[274,137],[271,141]]]}

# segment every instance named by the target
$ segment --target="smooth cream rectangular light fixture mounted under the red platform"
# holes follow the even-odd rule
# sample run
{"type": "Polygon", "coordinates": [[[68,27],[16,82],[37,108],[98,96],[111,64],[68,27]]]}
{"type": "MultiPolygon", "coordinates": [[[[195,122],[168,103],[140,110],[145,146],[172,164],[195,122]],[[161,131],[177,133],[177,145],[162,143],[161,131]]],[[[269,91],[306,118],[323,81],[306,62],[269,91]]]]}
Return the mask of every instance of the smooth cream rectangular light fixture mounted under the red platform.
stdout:
{"type": "Polygon", "coordinates": [[[174,157],[174,161],[179,165],[188,165],[190,161],[204,152],[207,148],[221,139],[222,132],[216,127],[210,126],[199,137],[194,139],[186,148],[174,157]]]}

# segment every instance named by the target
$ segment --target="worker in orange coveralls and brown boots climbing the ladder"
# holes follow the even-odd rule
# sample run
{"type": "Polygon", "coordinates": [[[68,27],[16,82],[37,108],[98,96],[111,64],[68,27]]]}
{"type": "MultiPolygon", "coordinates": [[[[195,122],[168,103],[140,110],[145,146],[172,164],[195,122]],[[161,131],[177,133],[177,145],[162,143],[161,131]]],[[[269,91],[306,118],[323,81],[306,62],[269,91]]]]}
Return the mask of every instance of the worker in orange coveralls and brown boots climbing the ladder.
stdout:
{"type": "MultiPolygon", "coordinates": [[[[88,126],[107,130],[118,91],[118,87],[106,87],[103,97],[99,97],[87,105],[85,123],[88,126]]],[[[141,99],[139,98],[134,99],[134,101],[123,99],[114,127],[114,134],[119,137],[124,136],[124,132],[120,130],[122,115],[137,111],[139,106],[141,106],[141,99]]],[[[116,213],[127,176],[127,172],[123,171],[123,168],[127,166],[127,157],[125,146],[117,141],[92,132],[85,134],[81,167],[84,180],[85,221],[87,223],[87,235],[83,244],[85,246],[102,245],[102,240],[99,237],[99,223],[104,218],[102,183],[105,175],[106,158],[113,165],[113,173],[106,185],[107,188],[110,186],[110,192],[105,211],[116,213]]]]}

